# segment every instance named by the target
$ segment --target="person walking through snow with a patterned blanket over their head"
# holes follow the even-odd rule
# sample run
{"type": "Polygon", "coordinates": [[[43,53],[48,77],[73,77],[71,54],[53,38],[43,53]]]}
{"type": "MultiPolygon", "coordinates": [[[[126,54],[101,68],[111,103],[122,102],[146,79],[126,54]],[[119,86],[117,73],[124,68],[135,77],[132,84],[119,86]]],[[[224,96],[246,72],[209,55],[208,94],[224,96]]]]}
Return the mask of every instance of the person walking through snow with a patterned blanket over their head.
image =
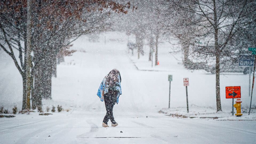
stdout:
{"type": "Polygon", "coordinates": [[[119,95],[122,94],[121,90],[121,75],[120,72],[117,69],[113,69],[107,74],[99,86],[97,95],[101,99],[101,101],[105,101],[105,106],[107,113],[103,119],[102,126],[103,127],[109,127],[107,125],[107,122],[112,122],[111,126],[115,127],[118,125],[117,122],[115,122],[114,116],[113,116],[113,107],[115,103],[118,104],[119,101],[119,95]]]}

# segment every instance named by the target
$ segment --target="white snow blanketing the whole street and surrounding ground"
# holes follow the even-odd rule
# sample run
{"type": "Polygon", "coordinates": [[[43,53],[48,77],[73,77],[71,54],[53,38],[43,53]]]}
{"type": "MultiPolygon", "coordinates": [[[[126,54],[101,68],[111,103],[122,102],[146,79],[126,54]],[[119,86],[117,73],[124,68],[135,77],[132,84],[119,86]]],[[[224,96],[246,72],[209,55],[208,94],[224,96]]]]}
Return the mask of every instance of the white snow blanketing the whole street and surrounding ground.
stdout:
{"type": "MultiPolygon", "coordinates": [[[[106,44],[103,41],[93,43],[88,42],[85,36],[79,38],[72,47],[78,51],[73,56],[66,57],[65,62],[57,67],[57,78],[53,78],[53,100],[43,101],[43,108],[45,110],[46,106],[62,105],[64,109],[70,111],[48,116],[41,116],[36,112],[29,115],[18,114],[14,118],[0,118],[0,143],[255,142],[254,110],[250,117],[247,116],[253,121],[218,121],[212,118],[169,116],[176,109],[178,114],[185,115],[184,77],[189,77],[190,80],[189,105],[198,106],[198,108],[192,106],[191,113],[201,113],[204,109],[211,114],[214,113],[216,111],[215,75],[202,70],[184,69],[176,59],[181,59],[181,55],[170,54],[170,46],[167,43],[159,46],[160,65],[151,68],[151,63],[147,61],[147,46],[145,46],[145,56],[137,60],[136,52],[134,56],[127,54],[125,41],[127,37],[124,34],[105,35],[112,41],[106,44]],[[124,41],[114,42],[113,39],[124,39],[124,41]],[[117,68],[122,77],[123,94],[119,98],[118,105],[114,106],[114,117],[119,125],[114,128],[104,128],[101,124],[106,109],[96,93],[103,77],[113,68],[117,68]],[[172,109],[165,109],[169,103],[168,74],[173,75],[172,109]],[[158,113],[159,110],[164,113],[158,113]]],[[[11,107],[17,105],[20,110],[21,76],[3,51],[0,51],[0,67],[0,106],[3,105],[11,111],[11,107]]],[[[232,103],[231,99],[225,98],[225,86],[241,86],[242,106],[248,106],[250,104],[248,77],[240,73],[221,75],[223,112],[220,115],[227,117],[224,120],[230,118],[232,103]]],[[[253,105],[256,104],[255,96],[254,93],[253,105]]],[[[232,119],[238,120],[235,117],[232,119]]],[[[111,125],[111,122],[109,124],[111,125]]]]}

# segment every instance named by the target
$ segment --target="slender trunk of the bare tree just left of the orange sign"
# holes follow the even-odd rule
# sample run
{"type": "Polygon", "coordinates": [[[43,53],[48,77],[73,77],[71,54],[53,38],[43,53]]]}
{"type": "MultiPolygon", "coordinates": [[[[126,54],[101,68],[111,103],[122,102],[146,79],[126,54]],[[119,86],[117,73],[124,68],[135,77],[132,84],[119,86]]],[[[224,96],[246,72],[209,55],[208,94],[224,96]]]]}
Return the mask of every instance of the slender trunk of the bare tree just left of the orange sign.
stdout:
{"type": "Polygon", "coordinates": [[[219,60],[220,60],[220,48],[218,43],[218,22],[217,22],[217,11],[215,0],[213,0],[213,11],[214,11],[214,47],[216,51],[216,105],[217,105],[217,112],[222,111],[221,109],[221,96],[220,96],[220,87],[219,87],[219,60]]]}

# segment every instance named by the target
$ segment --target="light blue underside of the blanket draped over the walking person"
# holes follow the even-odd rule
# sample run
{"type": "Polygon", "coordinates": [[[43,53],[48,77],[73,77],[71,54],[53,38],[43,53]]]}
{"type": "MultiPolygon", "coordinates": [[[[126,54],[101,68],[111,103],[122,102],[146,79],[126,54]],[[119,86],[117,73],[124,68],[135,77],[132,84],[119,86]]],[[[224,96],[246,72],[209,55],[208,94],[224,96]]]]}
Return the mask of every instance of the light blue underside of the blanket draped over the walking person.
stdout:
{"type": "MultiPolygon", "coordinates": [[[[102,102],[104,101],[104,95],[102,95],[102,92],[104,91],[104,94],[106,94],[109,89],[109,85],[106,84],[107,76],[103,78],[101,85],[99,86],[99,89],[97,92],[97,95],[102,102]]],[[[118,104],[119,96],[122,94],[120,75],[118,75],[118,82],[115,82],[115,83],[116,84],[115,84],[114,88],[119,91],[119,95],[117,95],[117,104],[118,104]]]]}

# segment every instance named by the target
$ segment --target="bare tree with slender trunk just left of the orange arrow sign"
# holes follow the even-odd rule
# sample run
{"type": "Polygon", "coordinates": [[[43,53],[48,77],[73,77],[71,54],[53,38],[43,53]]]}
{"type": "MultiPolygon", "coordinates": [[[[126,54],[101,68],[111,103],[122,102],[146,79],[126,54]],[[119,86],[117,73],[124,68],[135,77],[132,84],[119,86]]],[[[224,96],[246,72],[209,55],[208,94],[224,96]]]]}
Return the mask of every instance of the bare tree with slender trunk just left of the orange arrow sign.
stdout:
{"type": "Polygon", "coordinates": [[[242,21],[248,2],[247,0],[176,0],[167,1],[167,3],[176,11],[186,11],[194,15],[195,18],[190,25],[196,26],[193,34],[197,43],[193,45],[192,52],[194,56],[200,58],[215,57],[216,104],[217,111],[221,111],[220,61],[226,54],[227,45],[231,39],[245,24],[242,21]]]}

